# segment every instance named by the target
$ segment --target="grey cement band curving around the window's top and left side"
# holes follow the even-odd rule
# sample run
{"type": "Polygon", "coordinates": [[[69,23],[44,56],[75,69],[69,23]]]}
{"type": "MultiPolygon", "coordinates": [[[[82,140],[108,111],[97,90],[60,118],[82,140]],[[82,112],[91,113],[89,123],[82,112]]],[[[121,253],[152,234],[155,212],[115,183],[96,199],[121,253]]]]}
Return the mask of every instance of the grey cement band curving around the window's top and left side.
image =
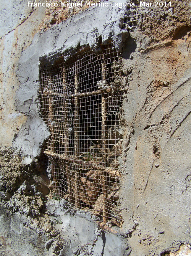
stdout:
{"type": "Polygon", "coordinates": [[[103,44],[113,40],[116,50],[121,51],[128,38],[128,31],[120,27],[125,12],[123,8],[89,8],[44,33],[36,34],[32,44],[23,51],[17,71],[20,86],[16,93],[16,108],[28,118],[13,145],[21,149],[24,155],[39,156],[42,144],[50,135],[37,108],[39,57],[65,51],[71,54],[77,46],[89,45],[94,48],[99,36],[102,36],[103,44]]]}

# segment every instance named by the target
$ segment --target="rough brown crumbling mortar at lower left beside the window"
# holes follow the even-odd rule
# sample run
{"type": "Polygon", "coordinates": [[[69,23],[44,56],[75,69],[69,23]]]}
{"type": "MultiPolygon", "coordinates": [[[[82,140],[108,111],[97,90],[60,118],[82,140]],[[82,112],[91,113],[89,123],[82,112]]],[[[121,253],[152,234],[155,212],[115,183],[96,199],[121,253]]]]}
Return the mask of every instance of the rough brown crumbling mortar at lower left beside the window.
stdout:
{"type": "MultiPolygon", "coordinates": [[[[47,211],[46,201],[49,195],[38,188],[45,186],[45,170],[43,163],[33,159],[25,164],[19,152],[12,148],[4,147],[0,150],[0,204],[8,216],[26,216],[28,222],[24,226],[35,230],[41,236],[47,237],[45,248],[58,255],[65,241],[60,237],[60,232],[47,211]],[[41,176],[41,177],[40,177],[41,176]],[[39,181],[42,184],[39,184],[39,181]]],[[[47,173],[48,175],[48,173],[47,173]]],[[[46,180],[47,182],[47,180],[46,180]]],[[[47,182],[47,191],[49,190],[47,182]]],[[[46,193],[47,193],[46,191],[46,193]]],[[[2,254],[1,254],[2,255],[2,254]]]]}

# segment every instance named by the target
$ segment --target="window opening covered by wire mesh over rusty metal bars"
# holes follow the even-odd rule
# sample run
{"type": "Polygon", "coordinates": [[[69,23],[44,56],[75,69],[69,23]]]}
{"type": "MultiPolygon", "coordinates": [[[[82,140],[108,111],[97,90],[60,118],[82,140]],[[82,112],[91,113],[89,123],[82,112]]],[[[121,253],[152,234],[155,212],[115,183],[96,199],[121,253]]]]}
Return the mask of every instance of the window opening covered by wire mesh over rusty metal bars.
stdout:
{"type": "Polygon", "coordinates": [[[120,53],[110,44],[64,59],[40,70],[39,108],[51,132],[44,153],[52,162],[55,193],[120,226],[120,53]]]}

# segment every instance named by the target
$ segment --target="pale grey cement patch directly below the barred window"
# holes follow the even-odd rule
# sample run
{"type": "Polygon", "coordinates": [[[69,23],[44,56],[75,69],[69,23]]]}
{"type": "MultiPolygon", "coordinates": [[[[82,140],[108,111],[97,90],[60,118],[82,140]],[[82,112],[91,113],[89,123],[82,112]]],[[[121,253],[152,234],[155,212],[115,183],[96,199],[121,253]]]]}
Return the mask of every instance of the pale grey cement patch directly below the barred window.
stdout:
{"type": "Polygon", "coordinates": [[[78,252],[80,255],[92,253],[95,256],[129,255],[131,249],[127,239],[121,235],[98,230],[97,223],[90,213],[74,213],[72,210],[69,212],[65,200],[50,200],[47,202],[47,209],[52,216],[57,216],[57,222],[62,223],[56,225],[56,228],[62,232],[63,239],[70,241],[70,246],[63,248],[63,255],[73,256],[78,252]]]}

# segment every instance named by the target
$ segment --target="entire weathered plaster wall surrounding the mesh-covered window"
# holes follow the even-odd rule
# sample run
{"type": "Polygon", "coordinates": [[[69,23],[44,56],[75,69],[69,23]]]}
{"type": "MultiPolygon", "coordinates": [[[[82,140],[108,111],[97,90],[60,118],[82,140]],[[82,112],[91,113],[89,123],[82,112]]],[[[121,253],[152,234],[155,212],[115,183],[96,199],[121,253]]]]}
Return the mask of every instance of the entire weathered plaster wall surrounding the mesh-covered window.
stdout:
{"type": "Polygon", "coordinates": [[[125,8],[74,15],[80,10],[10,3],[0,12],[0,144],[15,149],[0,154],[1,254],[150,256],[180,248],[176,255],[191,255],[190,2],[139,8],[133,28],[125,8]],[[37,107],[39,57],[95,46],[99,36],[123,48],[127,89],[118,235],[98,229],[96,216],[54,200],[40,158],[49,130],[37,107]]]}

